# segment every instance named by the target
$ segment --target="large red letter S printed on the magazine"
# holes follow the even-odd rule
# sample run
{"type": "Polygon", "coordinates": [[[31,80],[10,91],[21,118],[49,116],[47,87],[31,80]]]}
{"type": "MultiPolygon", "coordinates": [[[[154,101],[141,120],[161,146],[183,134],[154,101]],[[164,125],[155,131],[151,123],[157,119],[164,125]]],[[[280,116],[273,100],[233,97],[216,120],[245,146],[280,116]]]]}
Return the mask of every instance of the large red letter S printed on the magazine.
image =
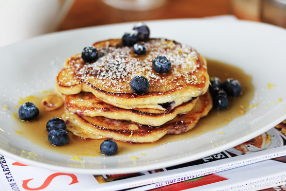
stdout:
{"type": "Polygon", "coordinates": [[[69,184],[75,184],[78,183],[78,178],[75,174],[66,174],[66,173],[55,173],[55,174],[51,174],[48,176],[48,178],[45,180],[45,182],[42,184],[42,186],[38,187],[38,188],[30,188],[28,187],[28,182],[30,182],[33,178],[28,179],[28,180],[22,180],[23,184],[23,188],[28,190],[28,191],[38,191],[38,190],[42,190],[46,187],[48,187],[48,185],[51,183],[52,179],[54,179],[56,176],[60,176],[60,175],[67,175],[70,176],[72,178],[72,182],[69,184]]]}

